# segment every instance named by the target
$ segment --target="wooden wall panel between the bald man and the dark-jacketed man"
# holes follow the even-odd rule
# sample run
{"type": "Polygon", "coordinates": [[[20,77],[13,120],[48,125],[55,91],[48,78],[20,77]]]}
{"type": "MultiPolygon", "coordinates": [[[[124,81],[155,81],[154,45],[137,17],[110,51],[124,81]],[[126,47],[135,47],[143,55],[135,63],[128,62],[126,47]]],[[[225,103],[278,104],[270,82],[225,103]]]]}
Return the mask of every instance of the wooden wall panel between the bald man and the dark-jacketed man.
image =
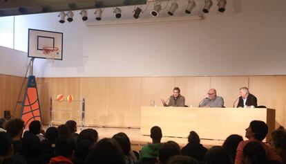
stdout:
{"type": "Polygon", "coordinates": [[[233,107],[233,102],[239,97],[238,89],[243,86],[248,86],[247,76],[211,77],[211,88],[216,89],[217,95],[222,96],[225,107],[233,107]]]}

